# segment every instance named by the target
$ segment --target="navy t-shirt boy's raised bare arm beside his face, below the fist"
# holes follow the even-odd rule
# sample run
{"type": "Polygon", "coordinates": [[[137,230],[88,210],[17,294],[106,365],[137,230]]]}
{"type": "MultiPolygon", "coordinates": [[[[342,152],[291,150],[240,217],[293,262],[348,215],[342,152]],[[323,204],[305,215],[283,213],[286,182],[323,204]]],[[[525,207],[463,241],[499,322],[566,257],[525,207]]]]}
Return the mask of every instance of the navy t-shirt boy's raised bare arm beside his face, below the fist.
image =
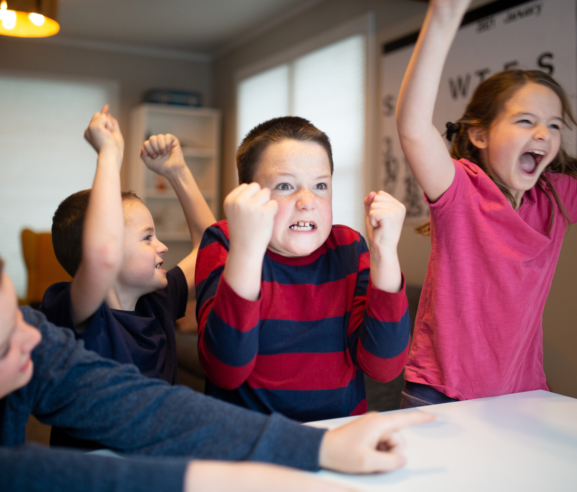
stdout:
{"type": "Polygon", "coordinates": [[[115,146],[98,155],[82,236],[82,259],[70,288],[75,323],[102,304],[122,264],[124,217],[115,146]]]}

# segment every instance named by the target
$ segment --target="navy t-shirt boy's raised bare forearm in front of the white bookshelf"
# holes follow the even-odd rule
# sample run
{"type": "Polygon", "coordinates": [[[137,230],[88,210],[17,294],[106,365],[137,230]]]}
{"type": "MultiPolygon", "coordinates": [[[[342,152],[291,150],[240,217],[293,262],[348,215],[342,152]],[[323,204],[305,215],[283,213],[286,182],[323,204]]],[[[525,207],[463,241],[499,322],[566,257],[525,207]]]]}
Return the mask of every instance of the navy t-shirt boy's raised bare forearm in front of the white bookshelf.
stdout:
{"type": "Polygon", "coordinates": [[[188,166],[184,165],[181,169],[171,170],[165,177],[177,194],[188,223],[190,240],[193,248],[196,248],[203,238],[204,230],[215,223],[216,219],[212,215],[212,211],[208,207],[196,181],[194,181],[188,166]]]}

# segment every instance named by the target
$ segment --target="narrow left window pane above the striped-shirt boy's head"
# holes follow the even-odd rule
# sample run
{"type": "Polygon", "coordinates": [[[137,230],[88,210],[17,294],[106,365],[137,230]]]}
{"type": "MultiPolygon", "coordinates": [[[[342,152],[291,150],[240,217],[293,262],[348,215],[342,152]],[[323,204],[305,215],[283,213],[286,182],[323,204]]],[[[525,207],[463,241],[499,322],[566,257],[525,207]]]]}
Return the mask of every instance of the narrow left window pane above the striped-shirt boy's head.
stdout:
{"type": "Polygon", "coordinates": [[[249,77],[238,85],[237,144],[254,126],[288,114],[288,65],[249,77]]]}

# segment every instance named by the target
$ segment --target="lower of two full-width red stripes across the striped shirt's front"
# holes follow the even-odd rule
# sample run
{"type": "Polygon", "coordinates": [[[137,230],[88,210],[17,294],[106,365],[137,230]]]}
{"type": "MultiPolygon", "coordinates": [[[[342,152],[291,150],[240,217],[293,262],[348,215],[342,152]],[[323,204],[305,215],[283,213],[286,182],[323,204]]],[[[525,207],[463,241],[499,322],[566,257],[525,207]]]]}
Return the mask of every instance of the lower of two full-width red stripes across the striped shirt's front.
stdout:
{"type": "Polygon", "coordinates": [[[257,355],[250,387],[269,390],[324,390],[346,387],[357,367],[349,351],[257,355]]]}

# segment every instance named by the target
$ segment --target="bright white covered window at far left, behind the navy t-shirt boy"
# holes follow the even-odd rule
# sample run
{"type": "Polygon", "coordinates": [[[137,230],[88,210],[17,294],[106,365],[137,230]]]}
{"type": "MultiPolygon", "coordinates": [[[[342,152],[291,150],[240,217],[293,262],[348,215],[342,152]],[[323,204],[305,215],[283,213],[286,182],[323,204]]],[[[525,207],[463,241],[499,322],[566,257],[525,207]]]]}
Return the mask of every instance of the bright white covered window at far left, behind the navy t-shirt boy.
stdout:
{"type": "Polygon", "coordinates": [[[96,153],[83,132],[109,99],[104,85],[0,77],[0,254],[19,297],[27,289],[21,230],[50,231],[58,204],[92,186],[96,153]]]}

